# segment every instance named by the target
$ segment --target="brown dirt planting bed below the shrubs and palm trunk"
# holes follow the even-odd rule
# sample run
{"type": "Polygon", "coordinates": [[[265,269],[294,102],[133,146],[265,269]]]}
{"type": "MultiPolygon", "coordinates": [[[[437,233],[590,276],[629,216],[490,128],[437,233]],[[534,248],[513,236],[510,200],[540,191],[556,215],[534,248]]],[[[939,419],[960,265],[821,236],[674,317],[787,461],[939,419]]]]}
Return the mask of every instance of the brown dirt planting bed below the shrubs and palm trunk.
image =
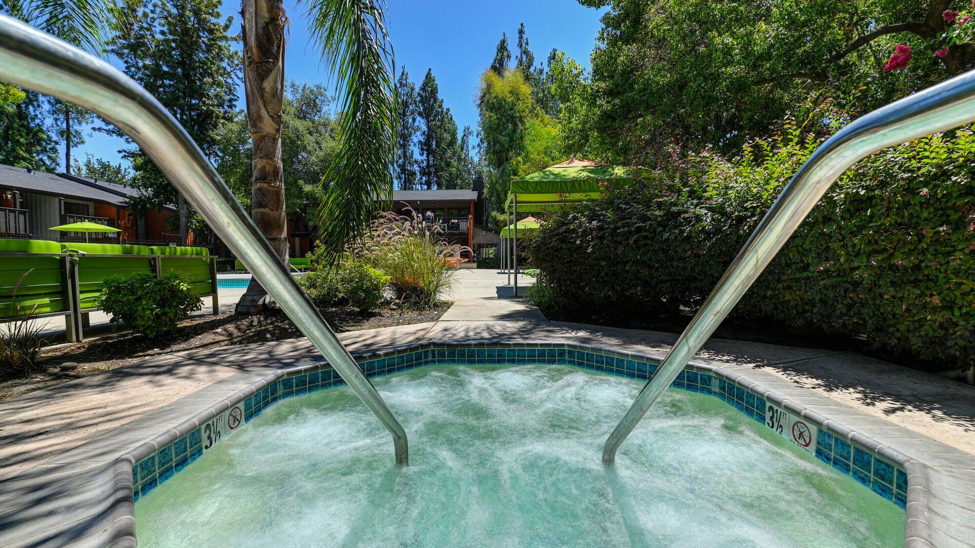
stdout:
{"type": "MultiPolygon", "coordinates": [[[[329,309],[323,313],[331,329],[336,333],[343,333],[436,322],[449,307],[449,303],[443,303],[427,311],[383,309],[377,312],[359,312],[354,309],[329,309]]],[[[140,334],[127,334],[80,344],[62,345],[42,353],[44,372],[0,381],[0,400],[55,386],[75,378],[121,368],[149,356],[299,336],[302,336],[301,332],[284,314],[274,316],[220,314],[185,320],[180,324],[177,333],[156,340],[140,334]],[[78,368],[74,371],[59,371],[58,367],[65,362],[74,362],[78,364],[78,368]]]]}

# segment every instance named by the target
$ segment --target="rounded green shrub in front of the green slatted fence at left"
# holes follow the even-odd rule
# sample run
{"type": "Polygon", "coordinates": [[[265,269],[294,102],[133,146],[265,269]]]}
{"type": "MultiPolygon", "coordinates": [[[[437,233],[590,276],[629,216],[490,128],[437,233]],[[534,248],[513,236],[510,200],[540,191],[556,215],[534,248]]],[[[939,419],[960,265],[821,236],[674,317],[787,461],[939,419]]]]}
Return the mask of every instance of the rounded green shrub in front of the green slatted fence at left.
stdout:
{"type": "Polygon", "coordinates": [[[202,308],[181,275],[156,277],[150,272],[105,280],[96,304],[112,324],[125,322],[149,338],[175,332],[176,322],[202,308]]]}

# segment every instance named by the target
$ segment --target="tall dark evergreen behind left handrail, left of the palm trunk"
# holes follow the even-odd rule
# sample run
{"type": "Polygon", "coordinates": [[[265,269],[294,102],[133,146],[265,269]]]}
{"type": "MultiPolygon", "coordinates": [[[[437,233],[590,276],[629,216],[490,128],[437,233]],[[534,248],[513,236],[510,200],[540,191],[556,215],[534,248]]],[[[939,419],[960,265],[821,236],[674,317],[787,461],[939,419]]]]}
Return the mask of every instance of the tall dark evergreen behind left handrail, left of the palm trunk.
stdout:
{"type": "MultiPolygon", "coordinates": [[[[218,0],[129,0],[132,25],[109,50],[211,157],[217,130],[237,102],[234,71],[240,64],[234,38],[227,34],[231,19],[220,20],[219,7],[218,0]]],[[[134,184],[148,194],[151,205],[176,202],[179,238],[185,242],[189,204],[140,149],[123,155],[132,160],[134,184]]]]}

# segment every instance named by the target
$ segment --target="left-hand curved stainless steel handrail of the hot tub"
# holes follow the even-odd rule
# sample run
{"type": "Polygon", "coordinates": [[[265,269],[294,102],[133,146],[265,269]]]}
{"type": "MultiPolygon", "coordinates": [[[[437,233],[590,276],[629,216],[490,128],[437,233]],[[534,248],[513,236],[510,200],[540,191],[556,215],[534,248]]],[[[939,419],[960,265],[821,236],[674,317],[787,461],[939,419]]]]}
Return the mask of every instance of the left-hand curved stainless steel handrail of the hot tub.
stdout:
{"type": "Polygon", "coordinates": [[[403,426],[203,152],[158,100],[107,62],[6,16],[0,16],[0,80],[83,106],[132,137],[386,426],[396,462],[408,463],[403,426]]]}

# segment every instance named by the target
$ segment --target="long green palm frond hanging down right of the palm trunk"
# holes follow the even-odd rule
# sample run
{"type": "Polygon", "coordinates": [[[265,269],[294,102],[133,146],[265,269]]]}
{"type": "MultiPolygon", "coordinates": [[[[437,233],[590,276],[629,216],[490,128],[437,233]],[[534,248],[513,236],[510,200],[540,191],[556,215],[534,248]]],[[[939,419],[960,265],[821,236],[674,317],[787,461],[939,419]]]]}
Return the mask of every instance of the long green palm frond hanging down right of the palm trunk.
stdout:
{"type": "Polygon", "coordinates": [[[319,212],[323,256],[333,262],[392,199],[396,81],[383,0],[305,0],[312,36],[335,80],[338,148],[319,212]]]}

